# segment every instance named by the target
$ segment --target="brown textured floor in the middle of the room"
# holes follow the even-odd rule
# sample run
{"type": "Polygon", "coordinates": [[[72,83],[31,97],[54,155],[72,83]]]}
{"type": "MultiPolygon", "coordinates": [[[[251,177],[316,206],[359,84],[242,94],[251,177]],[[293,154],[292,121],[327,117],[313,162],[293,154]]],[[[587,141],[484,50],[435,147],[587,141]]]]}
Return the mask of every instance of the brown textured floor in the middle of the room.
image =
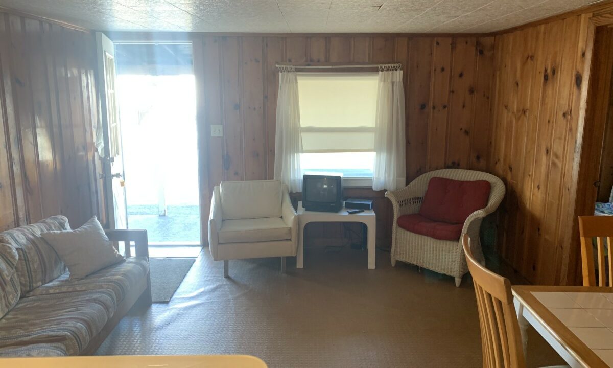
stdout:
{"type": "MultiPolygon", "coordinates": [[[[97,355],[248,354],[268,367],[479,367],[473,286],[419,272],[389,253],[305,250],[305,269],[278,258],[213,262],[205,248],[169,304],[126,316],[97,355]]],[[[528,367],[562,364],[533,329],[528,367]]]]}

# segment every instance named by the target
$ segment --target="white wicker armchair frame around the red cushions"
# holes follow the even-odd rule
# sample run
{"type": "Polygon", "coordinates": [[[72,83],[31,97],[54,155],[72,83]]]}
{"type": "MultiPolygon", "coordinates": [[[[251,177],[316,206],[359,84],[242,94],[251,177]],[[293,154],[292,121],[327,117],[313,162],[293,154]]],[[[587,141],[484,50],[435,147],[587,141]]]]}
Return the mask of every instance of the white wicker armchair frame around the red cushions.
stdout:
{"type": "Polygon", "coordinates": [[[466,218],[462,234],[468,234],[474,256],[484,263],[485,258],[479,242],[481,221],[494,212],[504,197],[504,184],[494,175],[481,171],[442,169],[427,172],[417,177],[406,188],[388,191],[385,196],[394,206],[394,226],[392,231],[392,266],[396,261],[416,264],[441,274],[455,277],[455,286],[460,286],[462,276],[468,272],[466,258],[462,251],[462,237],[457,241],[438,240],[431,237],[414,234],[398,227],[398,217],[419,212],[428,182],[432,177],[449,178],[453,180],[487,180],[491,183],[490,197],[487,206],[471,213],[466,218]]]}

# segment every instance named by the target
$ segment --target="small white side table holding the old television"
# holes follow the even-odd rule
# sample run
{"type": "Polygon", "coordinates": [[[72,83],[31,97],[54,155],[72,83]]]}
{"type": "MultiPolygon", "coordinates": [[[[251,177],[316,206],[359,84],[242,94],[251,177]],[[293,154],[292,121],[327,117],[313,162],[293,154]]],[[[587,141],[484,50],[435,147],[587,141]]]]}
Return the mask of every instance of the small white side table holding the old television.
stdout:
{"type": "Polygon", "coordinates": [[[304,234],[305,225],[310,222],[359,222],[366,224],[368,230],[368,268],[375,269],[376,249],[376,215],[373,210],[349,215],[345,208],[338,212],[307,211],[302,207],[302,201],[298,202],[298,218],[300,223],[298,235],[298,253],[296,254],[296,268],[304,267],[304,234]]]}

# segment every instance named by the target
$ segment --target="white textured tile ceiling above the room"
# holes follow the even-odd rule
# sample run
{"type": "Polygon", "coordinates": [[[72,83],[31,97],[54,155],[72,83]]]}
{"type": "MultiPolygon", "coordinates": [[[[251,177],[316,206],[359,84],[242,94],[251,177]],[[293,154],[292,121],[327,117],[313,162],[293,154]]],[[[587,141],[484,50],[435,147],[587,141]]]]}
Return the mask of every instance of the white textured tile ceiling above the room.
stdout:
{"type": "Polygon", "coordinates": [[[0,0],[103,31],[485,33],[593,0],[0,0]]]}

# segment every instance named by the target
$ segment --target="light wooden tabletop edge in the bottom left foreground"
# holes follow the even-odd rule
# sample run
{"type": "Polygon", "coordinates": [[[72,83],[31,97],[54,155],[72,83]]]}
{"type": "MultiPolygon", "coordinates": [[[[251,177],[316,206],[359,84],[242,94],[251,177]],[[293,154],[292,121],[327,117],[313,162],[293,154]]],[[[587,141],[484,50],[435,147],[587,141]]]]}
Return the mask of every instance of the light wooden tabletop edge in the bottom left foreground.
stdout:
{"type": "Polygon", "coordinates": [[[11,368],[267,368],[251,355],[113,355],[0,358],[11,368]]]}

